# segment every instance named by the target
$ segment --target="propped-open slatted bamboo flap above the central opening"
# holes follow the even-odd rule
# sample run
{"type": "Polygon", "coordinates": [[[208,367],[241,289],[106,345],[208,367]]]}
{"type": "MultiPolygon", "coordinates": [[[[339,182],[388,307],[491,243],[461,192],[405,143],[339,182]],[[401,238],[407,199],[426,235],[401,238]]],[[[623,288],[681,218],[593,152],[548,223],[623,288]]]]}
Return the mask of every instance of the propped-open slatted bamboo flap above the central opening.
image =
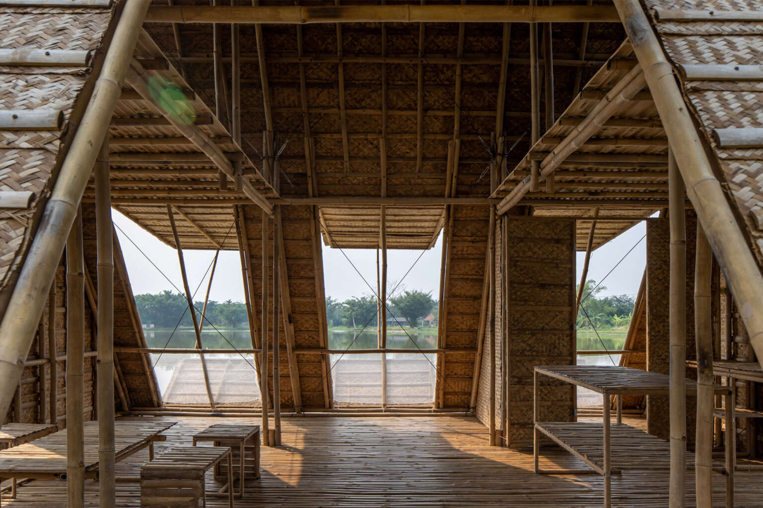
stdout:
{"type": "MultiPolygon", "coordinates": [[[[443,228],[443,206],[387,206],[388,249],[432,248],[443,228]]],[[[319,209],[324,243],[338,248],[375,249],[380,246],[381,209],[378,206],[341,206],[319,209]]]]}

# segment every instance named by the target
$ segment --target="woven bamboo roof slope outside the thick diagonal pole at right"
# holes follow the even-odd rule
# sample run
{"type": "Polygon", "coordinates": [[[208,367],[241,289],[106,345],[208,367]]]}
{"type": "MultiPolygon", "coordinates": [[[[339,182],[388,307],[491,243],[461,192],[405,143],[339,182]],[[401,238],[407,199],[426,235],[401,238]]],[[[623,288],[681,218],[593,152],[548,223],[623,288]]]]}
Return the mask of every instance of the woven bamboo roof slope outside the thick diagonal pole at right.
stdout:
{"type": "MultiPolygon", "coordinates": [[[[760,11],[756,0],[648,0],[651,8],[692,9],[698,13],[760,11]]],[[[652,11],[654,14],[654,11],[652,11]]],[[[665,18],[665,17],[662,17],[665,18]]],[[[680,72],[687,103],[694,108],[726,177],[729,196],[739,210],[753,253],[763,266],[763,147],[724,148],[715,129],[763,127],[763,79],[692,79],[685,65],[758,66],[763,62],[763,22],[758,21],[655,21],[668,58],[680,72]]],[[[717,68],[717,67],[716,67],[717,68]]]]}

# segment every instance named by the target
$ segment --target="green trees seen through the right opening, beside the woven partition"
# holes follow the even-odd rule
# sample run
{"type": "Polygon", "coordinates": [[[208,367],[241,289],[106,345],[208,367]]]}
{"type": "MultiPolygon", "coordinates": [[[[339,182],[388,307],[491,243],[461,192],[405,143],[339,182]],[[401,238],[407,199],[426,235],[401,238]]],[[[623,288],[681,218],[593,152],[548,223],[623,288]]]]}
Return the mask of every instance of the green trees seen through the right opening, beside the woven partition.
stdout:
{"type": "Polygon", "coordinates": [[[606,289],[607,286],[596,287],[593,279],[585,282],[578,309],[578,329],[624,327],[630,323],[636,299],[629,295],[598,296],[606,289]]]}

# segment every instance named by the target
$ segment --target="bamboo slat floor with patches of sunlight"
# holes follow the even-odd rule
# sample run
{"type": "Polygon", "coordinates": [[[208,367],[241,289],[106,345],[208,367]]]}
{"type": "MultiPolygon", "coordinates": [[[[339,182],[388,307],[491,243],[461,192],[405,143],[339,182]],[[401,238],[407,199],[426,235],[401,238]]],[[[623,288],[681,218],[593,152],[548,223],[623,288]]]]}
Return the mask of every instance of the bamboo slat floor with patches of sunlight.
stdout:
{"type": "MultiPolygon", "coordinates": [[[[125,418],[136,420],[136,417],[125,418]]],[[[148,418],[146,417],[146,420],[148,418]]],[[[156,449],[191,443],[214,423],[250,423],[259,418],[157,417],[178,421],[156,449]]],[[[642,427],[643,420],[623,420],[642,427]]],[[[272,421],[271,421],[272,425],[272,421]]],[[[272,427],[271,427],[272,428],[272,427]]],[[[475,417],[304,417],[282,419],[283,446],[262,447],[262,478],[248,481],[235,506],[568,506],[603,504],[598,474],[533,473],[533,449],[488,446],[475,417]]],[[[588,469],[558,447],[542,448],[543,469],[588,469]]],[[[121,476],[137,476],[148,452],[117,464],[121,476]]],[[[763,471],[736,472],[736,506],[761,506],[763,471]]],[[[724,478],[713,474],[714,506],[724,506],[724,478]]],[[[208,480],[209,490],[219,484],[208,480]]],[[[98,506],[98,484],[85,482],[86,506],[98,506]]],[[[117,506],[140,506],[137,482],[117,484],[117,506]]],[[[694,474],[687,473],[687,506],[694,506],[694,474]]],[[[35,480],[18,489],[17,508],[64,508],[66,484],[35,480]]],[[[212,498],[210,507],[227,506],[212,498]]],[[[625,468],[612,478],[612,506],[668,506],[668,471],[625,468]]]]}

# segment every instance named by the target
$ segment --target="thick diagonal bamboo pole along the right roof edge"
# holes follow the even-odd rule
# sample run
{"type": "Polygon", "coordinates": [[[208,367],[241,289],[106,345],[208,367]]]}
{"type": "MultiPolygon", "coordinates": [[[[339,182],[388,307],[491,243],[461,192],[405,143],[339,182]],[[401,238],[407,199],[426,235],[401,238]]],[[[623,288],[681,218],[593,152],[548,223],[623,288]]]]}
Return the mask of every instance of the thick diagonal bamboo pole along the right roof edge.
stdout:
{"type": "Polygon", "coordinates": [[[621,0],[615,6],[644,69],[668,139],[681,151],[678,168],[686,182],[687,194],[732,292],[742,304],[739,305],[742,321],[760,361],[763,359],[763,274],[703,150],[703,141],[672,76],[673,69],[642,6],[637,0],[621,0]]]}

